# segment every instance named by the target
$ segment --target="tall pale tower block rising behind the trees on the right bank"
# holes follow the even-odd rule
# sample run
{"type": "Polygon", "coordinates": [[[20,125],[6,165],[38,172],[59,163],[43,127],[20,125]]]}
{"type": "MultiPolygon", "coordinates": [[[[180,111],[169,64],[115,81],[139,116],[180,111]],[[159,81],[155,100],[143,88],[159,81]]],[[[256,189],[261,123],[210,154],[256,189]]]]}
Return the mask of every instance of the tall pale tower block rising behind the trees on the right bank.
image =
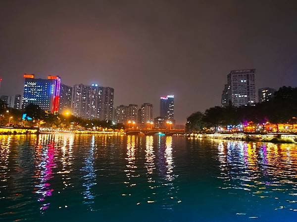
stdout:
{"type": "Polygon", "coordinates": [[[256,103],[255,69],[234,70],[227,75],[227,84],[222,93],[222,107],[235,107],[256,103]]]}

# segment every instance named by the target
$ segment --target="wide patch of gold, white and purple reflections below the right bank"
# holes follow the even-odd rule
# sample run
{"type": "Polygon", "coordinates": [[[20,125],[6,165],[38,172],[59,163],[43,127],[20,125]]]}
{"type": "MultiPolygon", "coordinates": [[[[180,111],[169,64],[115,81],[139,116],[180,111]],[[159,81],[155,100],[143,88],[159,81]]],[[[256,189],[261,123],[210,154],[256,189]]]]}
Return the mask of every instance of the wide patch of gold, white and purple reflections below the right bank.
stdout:
{"type": "Polygon", "coordinates": [[[218,178],[223,180],[219,188],[234,189],[229,193],[242,189],[250,196],[275,199],[271,205],[274,210],[295,209],[296,144],[221,142],[218,160],[218,178]]]}

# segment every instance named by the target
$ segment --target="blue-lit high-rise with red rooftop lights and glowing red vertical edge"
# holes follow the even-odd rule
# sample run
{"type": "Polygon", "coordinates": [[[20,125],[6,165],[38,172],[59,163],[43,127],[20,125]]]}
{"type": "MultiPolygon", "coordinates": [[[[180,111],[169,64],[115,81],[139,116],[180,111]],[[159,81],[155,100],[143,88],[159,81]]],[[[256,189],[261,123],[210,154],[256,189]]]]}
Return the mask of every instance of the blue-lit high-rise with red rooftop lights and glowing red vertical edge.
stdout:
{"type": "Polygon", "coordinates": [[[35,78],[34,74],[24,74],[24,95],[22,108],[30,103],[40,106],[44,111],[56,113],[59,106],[61,79],[49,75],[48,79],[35,78]]]}

